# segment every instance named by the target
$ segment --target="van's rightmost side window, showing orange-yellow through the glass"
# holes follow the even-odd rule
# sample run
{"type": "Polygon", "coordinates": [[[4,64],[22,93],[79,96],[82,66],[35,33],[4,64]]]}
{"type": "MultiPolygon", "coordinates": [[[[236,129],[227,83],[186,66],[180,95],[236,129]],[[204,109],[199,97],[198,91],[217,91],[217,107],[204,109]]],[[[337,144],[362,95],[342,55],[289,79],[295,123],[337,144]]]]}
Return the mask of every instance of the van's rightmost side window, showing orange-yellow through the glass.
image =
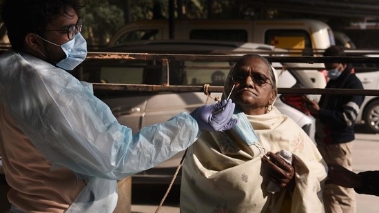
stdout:
{"type": "Polygon", "coordinates": [[[283,49],[312,48],[311,38],[305,30],[267,30],[265,43],[283,49]]]}

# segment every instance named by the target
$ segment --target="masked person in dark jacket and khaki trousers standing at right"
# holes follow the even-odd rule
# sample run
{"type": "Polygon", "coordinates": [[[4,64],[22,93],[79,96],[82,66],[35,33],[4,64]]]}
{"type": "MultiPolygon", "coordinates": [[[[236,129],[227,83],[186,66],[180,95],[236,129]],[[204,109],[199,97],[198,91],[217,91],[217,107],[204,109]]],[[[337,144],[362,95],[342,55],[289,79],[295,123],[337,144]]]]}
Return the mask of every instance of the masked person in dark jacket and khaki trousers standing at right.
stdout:
{"type": "MultiPolygon", "coordinates": [[[[324,52],[324,57],[345,57],[345,50],[332,45],[324,52]]],[[[325,63],[329,81],[325,88],[363,89],[350,63],[325,63]]],[[[322,158],[329,163],[337,163],[351,170],[352,150],[355,136],[354,125],[362,95],[322,95],[320,101],[305,103],[316,118],[315,140],[322,158]]],[[[356,212],[355,192],[351,188],[325,185],[323,192],[325,213],[356,212]]]]}

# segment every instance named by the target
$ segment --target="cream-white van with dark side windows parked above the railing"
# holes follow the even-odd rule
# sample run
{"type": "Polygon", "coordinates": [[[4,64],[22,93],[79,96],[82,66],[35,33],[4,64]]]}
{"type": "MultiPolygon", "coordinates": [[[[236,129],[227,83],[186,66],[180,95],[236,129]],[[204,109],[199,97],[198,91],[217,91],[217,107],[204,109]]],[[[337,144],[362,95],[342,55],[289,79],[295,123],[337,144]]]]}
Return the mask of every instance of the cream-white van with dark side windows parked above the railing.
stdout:
{"type": "MultiPolygon", "coordinates": [[[[167,20],[129,23],[109,42],[109,46],[132,41],[170,39],[167,20]]],[[[176,20],[174,39],[205,39],[218,41],[254,42],[276,48],[309,50],[326,49],[335,44],[329,26],[313,19],[252,20],[176,20]]]]}

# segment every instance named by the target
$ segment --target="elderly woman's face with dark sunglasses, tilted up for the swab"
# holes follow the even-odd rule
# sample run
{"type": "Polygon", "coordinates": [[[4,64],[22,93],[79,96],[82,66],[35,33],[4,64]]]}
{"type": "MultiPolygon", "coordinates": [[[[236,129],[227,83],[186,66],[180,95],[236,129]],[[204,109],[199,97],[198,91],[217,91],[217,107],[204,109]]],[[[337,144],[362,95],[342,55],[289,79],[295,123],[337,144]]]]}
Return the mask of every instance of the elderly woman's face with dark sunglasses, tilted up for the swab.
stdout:
{"type": "Polygon", "coordinates": [[[265,114],[267,105],[274,103],[276,97],[269,72],[262,59],[246,57],[238,61],[229,73],[225,93],[228,94],[235,84],[230,96],[234,103],[245,114],[265,114]]]}

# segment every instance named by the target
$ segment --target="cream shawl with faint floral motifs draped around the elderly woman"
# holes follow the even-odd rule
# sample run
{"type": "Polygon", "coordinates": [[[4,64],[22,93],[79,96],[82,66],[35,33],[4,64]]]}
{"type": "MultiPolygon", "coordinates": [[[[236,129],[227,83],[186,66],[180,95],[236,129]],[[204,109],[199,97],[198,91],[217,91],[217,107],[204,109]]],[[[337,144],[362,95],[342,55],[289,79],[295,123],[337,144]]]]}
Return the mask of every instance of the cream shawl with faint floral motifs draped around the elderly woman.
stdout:
{"type": "Polygon", "coordinates": [[[259,137],[248,146],[234,131],[203,132],[188,148],[181,181],[181,212],[322,212],[327,166],[309,136],[275,107],[247,115],[259,137]],[[296,187],[270,194],[267,151],[293,154],[296,187]]]}

